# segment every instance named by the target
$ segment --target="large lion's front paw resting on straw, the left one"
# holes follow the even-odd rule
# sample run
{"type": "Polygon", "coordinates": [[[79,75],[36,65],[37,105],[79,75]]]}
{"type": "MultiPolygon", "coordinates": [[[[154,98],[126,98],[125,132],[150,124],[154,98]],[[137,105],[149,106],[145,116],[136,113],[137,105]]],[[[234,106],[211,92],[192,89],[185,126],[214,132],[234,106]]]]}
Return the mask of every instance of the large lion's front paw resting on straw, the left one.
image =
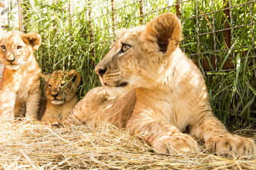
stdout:
{"type": "Polygon", "coordinates": [[[153,142],[152,147],[161,154],[179,155],[184,152],[197,152],[198,144],[190,135],[179,133],[163,136],[153,142]]]}

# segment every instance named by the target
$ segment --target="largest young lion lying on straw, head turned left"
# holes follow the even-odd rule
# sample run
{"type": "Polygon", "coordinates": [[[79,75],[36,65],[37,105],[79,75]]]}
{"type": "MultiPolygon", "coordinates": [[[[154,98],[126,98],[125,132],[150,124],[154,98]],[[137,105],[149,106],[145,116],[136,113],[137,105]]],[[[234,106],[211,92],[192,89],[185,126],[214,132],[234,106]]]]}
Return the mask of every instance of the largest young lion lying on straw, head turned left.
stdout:
{"type": "Polygon", "coordinates": [[[95,67],[103,87],[89,91],[65,123],[102,118],[160,153],[195,151],[195,137],[210,152],[255,155],[253,140],[231,134],[214,117],[203,75],[178,47],[181,39],[181,22],[173,13],[120,30],[95,67]],[[189,135],[181,132],[186,127],[189,135]]]}

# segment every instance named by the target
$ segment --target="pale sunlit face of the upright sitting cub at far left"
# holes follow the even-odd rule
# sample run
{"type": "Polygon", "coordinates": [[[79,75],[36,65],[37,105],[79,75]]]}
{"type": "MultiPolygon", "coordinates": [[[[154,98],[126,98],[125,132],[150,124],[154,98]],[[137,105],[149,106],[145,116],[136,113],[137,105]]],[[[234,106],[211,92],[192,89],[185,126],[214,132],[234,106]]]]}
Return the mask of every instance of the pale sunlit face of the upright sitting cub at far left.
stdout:
{"type": "Polygon", "coordinates": [[[38,33],[24,34],[14,30],[4,33],[0,40],[0,60],[8,69],[18,69],[26,64],[28,57],[33,55],[41,44],[41,35],[38,33]],[[29,54],[29,55],[28,55],[29,54]]]}

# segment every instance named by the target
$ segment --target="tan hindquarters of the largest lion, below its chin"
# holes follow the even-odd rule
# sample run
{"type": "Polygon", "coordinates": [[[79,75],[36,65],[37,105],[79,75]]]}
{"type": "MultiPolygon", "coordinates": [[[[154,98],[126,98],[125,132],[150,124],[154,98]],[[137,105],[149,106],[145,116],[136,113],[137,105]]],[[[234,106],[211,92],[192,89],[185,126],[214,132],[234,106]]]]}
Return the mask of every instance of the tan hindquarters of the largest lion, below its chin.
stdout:
{"type": "Polygon", "coordinates": [[[106,120],[113,125],[125,127],[131,117],[135,101],[133,89],[126,95],[114,97],[110,96],[104,87],[96,87],[78,102],[63,123],[78,125],[80,122],[86,123],[91,120],[106,120]]]}

